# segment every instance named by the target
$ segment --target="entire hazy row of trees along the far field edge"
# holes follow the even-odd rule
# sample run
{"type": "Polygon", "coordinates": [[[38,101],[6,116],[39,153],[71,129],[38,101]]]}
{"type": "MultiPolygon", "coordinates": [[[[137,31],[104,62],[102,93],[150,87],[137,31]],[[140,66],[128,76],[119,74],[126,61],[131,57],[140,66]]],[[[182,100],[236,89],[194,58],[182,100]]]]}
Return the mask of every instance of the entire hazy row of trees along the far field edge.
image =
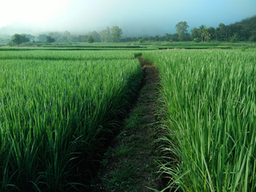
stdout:
{"type": "Polygon", "coordinates": [[[100,32],[93,31],[88,34],[70,34],[68,31],[64,33],[50,32],[49,34],[39,34],[38,36],[31,34],[14,34],[10,44],[19,46],[24,42],[256,42],[256,16],[227,26],[220,23],[216,28],[201,25],[194,27],[190,30],[190,33],[188,32],[189,26],[187,22],[178,22],[175,28],[176,33],[174,34],[127,38],[122,38],[122,29],[118,26],[112,26],[111,28],[106,27],[105,30],[100,32]]]}

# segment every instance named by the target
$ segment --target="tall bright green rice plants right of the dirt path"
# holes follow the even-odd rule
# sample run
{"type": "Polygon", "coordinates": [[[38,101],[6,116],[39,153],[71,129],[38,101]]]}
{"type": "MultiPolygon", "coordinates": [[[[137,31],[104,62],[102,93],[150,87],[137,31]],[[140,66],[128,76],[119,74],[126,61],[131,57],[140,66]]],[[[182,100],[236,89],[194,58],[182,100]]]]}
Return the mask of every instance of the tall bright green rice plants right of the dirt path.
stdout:
{"type": "Polygon", "coordinates": [[[160,70],[166,189],[255,191],[256,51],[142,56],[160,70]]]}

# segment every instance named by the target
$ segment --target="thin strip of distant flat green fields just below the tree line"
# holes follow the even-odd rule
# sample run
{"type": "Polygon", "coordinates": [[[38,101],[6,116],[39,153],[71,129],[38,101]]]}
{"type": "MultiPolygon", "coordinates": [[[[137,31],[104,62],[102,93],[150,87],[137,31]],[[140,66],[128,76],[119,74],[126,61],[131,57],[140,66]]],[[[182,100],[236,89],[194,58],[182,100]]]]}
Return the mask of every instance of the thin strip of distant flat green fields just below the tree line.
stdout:
{"type": "Polygon", "coordinates": [[[256,48],[254,42],[94,42],[94,43],[40,43],[30,46],[0,46],[1,50],[166,50],[166,49],[235,49],[256,48]]]}

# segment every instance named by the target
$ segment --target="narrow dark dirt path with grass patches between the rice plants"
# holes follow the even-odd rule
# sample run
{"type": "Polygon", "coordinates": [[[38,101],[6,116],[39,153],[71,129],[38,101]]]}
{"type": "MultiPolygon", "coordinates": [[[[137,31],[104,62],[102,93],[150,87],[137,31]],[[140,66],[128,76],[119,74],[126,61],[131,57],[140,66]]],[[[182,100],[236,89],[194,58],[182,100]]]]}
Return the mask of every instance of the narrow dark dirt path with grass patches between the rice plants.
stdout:
{"type": "Polygon", "coordinates": [[[118,137],[102,160],[100,181],[92,191],[154,191],[161,186],[155,160],[154,102],[157,91],[158,70],[138,57],[144,71],[144,82],[138,101],[118,137]]]}

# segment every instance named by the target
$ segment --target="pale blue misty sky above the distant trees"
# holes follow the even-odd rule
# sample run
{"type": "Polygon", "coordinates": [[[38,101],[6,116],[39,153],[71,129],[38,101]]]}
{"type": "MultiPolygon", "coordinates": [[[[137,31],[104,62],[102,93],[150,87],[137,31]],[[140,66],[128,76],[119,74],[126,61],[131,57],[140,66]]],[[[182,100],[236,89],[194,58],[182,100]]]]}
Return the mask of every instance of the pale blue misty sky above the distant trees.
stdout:
{"type": "Polygon", "coordinates": [[[186,21],[228,25],[256,14],[255,0],[1,0],[0,34],[85,33],[119,26],[123,36],[174,33],[186,21]]]}

